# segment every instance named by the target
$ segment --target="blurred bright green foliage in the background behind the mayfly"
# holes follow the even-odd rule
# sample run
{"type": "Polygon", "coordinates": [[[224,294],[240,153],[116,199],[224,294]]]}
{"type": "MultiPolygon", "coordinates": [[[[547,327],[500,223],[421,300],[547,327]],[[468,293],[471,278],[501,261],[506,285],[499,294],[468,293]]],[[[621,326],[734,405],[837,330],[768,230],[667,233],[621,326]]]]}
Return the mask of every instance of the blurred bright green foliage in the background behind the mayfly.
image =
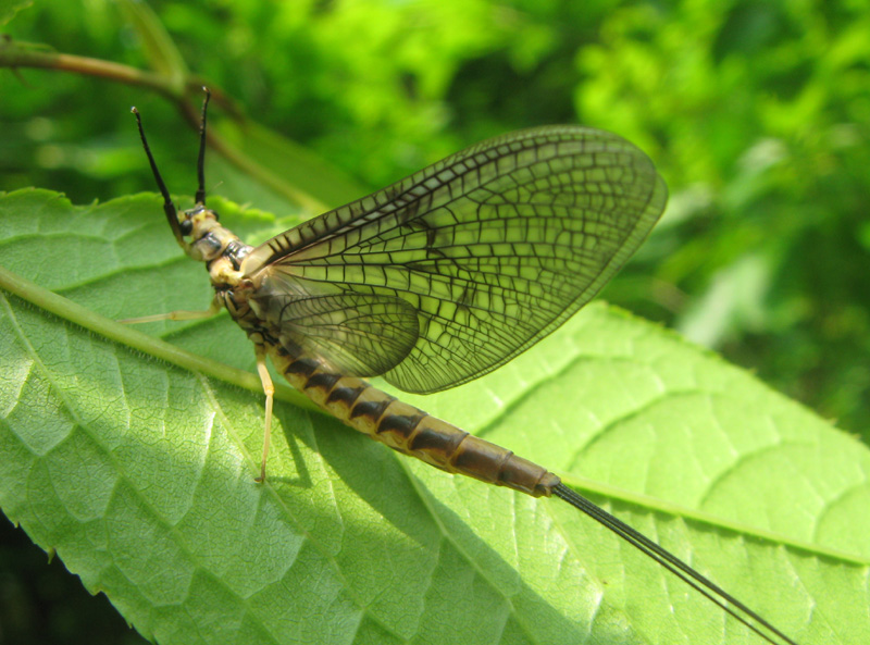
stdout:
{"type": "MultiPolygon", "coordinates": [[[[580,122],[635,141],[672,198],[605,297],[716,348],[867,441],[866,2],[151,7],[189,70],[362,189],[525,126],[580,122]]],[[[36,1],[5,32],[146,69],[121,9],[36,1]]],[[[0,21],[9,15],[4,5],[0,21]]],[[[20,74],[24,83],[0,73],[0,189],[49,187],[76,203],[152,190],[126,110],[135,103],[171,189],[192,193],[194,136],[167,102],[91,77],[20,74]]],[[[226,188],[215,191],[275,203],[226,188]]],[[[337,193],[332,206],[345,200],[337,193]]]]}

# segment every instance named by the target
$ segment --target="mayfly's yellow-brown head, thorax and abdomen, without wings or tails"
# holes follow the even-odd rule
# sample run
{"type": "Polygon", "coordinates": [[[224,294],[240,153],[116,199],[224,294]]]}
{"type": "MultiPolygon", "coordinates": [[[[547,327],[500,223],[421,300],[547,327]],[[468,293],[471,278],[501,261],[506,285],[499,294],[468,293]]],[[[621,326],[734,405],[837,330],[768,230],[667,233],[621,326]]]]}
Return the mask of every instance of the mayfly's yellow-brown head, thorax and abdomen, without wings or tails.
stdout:
{"type": "MultiPolygon", "coordinates": [[[[297,296],[270,287],[272,274],[268,268],[246,272],[248,259],[256,260],[256,256],[251,256],[253,248],[217,224],[213,211],[195,208],[185,216],[181,228],[189,230],[195,240],[188,252],[208,263],[215,289],[215,309],[225,307],[248,333],[260,364],[268,355],[294,387],[346,424],[390,448],[449,472],[509,486],[535,497],[550,495],[559,477],[546,469],[403,404],[359,377],[336,372],[328,361],[287,337],[289,324],[304,325],[299,319],[312,314],[344,325],[347,334],[360,334],[360,319],[369,315],[374,322],[365,324],[385,334],[389,331],[388,323],[381,322],[378,317],[395,310],[407,314],[410,310],[384,305],[378,298],[345,297],[344,309],[334,311],[327,309],[335,307],[332,297],[297,296]],[[349,311],[351,305],[353,309],[349,311]]],[[[272,243],[269,245],[272,248],[272,243]]],[[[398,320],[402,324],[413,322],[407,318],[398,320]]],[[[373,346],[371,351],[377,351],[377,347],[373,346]]],[[[260,479],[264,476],[265,455],[260,479]]]]}

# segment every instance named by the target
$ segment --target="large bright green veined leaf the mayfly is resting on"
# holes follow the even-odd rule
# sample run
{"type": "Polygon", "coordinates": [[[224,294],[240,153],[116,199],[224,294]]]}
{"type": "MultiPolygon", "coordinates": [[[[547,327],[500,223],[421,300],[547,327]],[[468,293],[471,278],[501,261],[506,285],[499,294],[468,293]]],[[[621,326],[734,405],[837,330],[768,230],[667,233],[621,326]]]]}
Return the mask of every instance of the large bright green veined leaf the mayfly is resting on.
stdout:
{"type": "MultiPolygon", "coordinates": [[[[215,202],[246,238],[274,226],[215,202]]],[[[209,303],[157,197],[13,193],[0,240],[0,506],[144,635],[761,642],[560,500],[289,402],[256,484],[262,393],[231,369],[253,359],[228,317],[111,322],[209,303]]],[[[718,357],[593,306],[484,379],[407,398],[562,474],[799,643],[870,638],[868,449],[718,357]]]]}

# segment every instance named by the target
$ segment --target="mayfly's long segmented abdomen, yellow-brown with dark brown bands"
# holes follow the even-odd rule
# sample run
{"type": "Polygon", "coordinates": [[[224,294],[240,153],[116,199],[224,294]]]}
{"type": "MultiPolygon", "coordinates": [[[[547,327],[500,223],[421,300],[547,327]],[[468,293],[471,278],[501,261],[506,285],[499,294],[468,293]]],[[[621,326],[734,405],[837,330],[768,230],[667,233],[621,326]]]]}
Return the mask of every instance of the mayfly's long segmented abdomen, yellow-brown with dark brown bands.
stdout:
{"type": "Polygon", "coordinates": [[[460,473],[535,497],[547,496],[559,477],[510,450],[403,404],[355,376],[326,370],[312,358],[270,346],[275,368],[298,390],[353,430],[447,472],[460,473]]]}

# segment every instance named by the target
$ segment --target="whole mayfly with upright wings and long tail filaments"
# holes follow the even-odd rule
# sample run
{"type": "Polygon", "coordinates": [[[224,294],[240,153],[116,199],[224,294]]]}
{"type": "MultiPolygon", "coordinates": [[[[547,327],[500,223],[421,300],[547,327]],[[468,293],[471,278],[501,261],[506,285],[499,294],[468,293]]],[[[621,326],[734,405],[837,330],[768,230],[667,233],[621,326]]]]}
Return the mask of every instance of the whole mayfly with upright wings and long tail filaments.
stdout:
{"type": "Polygon", "coordinates": [[[562,324],[625,263],[668,190],[629,141],[573,125],[489,139],[251,247],[206,207],[208,90],[196,204],[179,215],[139,134],[163,211],[190,258],[206,262],[206,311],[225,308],[253,342],[265,394],[258,481],[265,479],[274,386],[289,383],[347,425],[450,473],[587,513],[768,643],[795,641],[688,565],[561,483],[547,469],[397,400],[362,377],[433,393],[505,364],[562,324]]]}

